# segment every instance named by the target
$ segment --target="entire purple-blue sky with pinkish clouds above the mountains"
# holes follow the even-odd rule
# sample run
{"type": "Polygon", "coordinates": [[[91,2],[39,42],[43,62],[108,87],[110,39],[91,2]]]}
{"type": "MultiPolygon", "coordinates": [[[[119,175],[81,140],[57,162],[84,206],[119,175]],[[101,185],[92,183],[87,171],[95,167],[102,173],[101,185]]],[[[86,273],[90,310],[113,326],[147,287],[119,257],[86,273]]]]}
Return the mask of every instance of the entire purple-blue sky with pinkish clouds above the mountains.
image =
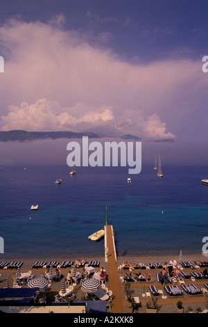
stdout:
{"type": "Polygon", "coordinates": [[[207,141],[207,0],[1,0],[0,130],[207,141]]]}

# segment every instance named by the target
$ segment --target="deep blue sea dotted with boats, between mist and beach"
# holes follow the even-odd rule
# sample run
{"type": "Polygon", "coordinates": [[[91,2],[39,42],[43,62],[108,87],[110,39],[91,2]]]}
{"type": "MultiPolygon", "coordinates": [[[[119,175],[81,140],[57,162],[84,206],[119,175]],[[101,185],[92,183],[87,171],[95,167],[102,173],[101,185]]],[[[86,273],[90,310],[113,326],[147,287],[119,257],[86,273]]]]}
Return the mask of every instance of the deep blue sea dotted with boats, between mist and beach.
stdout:
{"type": "Polygon", "coordinates": [[[208,236],[206,167],[167,166],[159,179],[153,166],[138,175],[128,168],[8,166],[0,170],[3,257],[80,257],[104,254],[104,242],[88,240],[103,228],[105,207],[118,255],[202,253],[208,236]],[[128,184],[127,178],[132,183],[128,184]],[[39,205],[35,212],[31,205],[39,205]],[[31,218],[31,219],[30,219],[31,218]]]}

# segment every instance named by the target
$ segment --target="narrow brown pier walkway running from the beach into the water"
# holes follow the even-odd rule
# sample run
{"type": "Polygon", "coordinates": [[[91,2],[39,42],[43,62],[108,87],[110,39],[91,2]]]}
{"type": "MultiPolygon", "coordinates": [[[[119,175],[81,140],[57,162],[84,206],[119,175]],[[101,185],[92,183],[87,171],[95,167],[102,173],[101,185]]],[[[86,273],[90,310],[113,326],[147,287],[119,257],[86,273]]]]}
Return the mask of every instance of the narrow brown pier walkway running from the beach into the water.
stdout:
{"type": "MultiPolygon", "coordinates": [[[[114,235],[112,225],[105,226],[107,232],[107,271],[109,278],[109,289],[112,290],[111,312],[123,313],[121,288],[116,268],[116,249],[114,247],[114,235]]],[[[123,291],[123,289],[122,289],[123,291]]]]}

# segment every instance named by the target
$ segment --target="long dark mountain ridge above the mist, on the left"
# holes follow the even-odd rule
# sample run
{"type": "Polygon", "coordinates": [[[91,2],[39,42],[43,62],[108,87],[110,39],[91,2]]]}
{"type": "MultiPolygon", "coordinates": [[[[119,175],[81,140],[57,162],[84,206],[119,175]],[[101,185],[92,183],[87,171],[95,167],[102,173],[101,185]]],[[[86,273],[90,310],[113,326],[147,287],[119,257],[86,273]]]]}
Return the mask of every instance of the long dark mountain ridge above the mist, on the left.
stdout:
{"type": "Polygon", "coordinates": [[[82,133],[76,133],[73,131],[23,131],[21,129],[13,131],[0,131],[0,142],[6,141],[33,141],[38,139],[51,138],[83,138],[88,136],[89,138],[103,138],[105,135],[92,133],[91,131],[84,131],[82,133]]]}

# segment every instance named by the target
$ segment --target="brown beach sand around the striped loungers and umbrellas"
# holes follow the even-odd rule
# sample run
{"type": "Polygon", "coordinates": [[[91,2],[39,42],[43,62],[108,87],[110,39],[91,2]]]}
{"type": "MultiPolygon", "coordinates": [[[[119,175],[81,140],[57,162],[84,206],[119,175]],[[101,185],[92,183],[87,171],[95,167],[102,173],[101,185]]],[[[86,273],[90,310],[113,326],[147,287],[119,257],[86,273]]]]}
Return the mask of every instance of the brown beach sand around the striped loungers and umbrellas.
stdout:
{"type": "MultiPolygon", "coordinates": [[[[1,255],[0,261],[7,261],[7,262],[12,262],[12,261],[22,261],[24,262],[24,264],[21,266],[21,271],[25,272],[25,271],[29,271],[32,270],[33,275],[35,275],[36,277],[40,277],[42,274],[44,274],[44,269],[33,269],[33,264],[35,264],[35,262],[37,261],[46,261],[49,262],[51,260],[53,261],[58,261],[60,264],[62,264],[63,261],[76,261],[76,260],[85,260],[86,262],[89,262],[90,260],[99,260],[100,261],[100,267],[96,268],[96,271],[99,271],[101,269],[101,267],[103,267],[106,271],[108,269],[107,267],[107,262],[105,262],[105,258],[103,257],[36,257],[36,258],[22,258],[22,257],[15,257],[15,258],[5,258],[3,257],[3,255],[1,255]]],[[[130,263],[134,263],[134,262],[139,262],[139,263],[144,263],[147,264],[148,262],[155,264],[155,262],[160,262],[160,263],[164,263],[164,262],[169,262],[170,260],[176,260],[177,263],[179,264],[180,260],[179,260],[179,254],[177,255],[134,255],[134,256],[122,256],[122,257],[117,257],[117,262],[116,262],[116,266],[117,266],[117,274],[118,274],[118,279],[119,279],[119,286],[120,286],[120,292],[121,292],[121,298],[122,298],[122,302],[123,302],[123,312],[124,313],[130,313],[132,312],[132,310],[129,308],[130,304],[128,303],[128,301],[126,301],[125,299],[125,294],[124,294],[124,285],[121,282],[121,276],[124,275],[125,271],[123,270],[119,270],[119,266],[122,264],[122,262],[128,262],[130,263]]],[[[208,258],[205,257],[202,254],[188,254],[188,255],[183,255],[183,261],[187,262],[194,262],[194,261],[208,261],[208,258]]],[[[54,269],[55,270],[55,269],[54,269]]],[[[78,269],[78,270],[82,270],[82,269],[78,269]]],[[[146,312],[146,302],[149,300],[149,298],[144,298],[142,296],[142,294],[146,294],[146,292],[150,292],[148,289],[149,285],[155,285],[155,287],[157,287],[157,289],[164,289],[164,286],[161,285],[159,282],[157,282],[156,279],[156,273],[161,271],[162,269],[150,269],[150,270],[145,270],[142,271],[145,273],[149,273],[152,277],[151,282],[131,282],[130,283],[130,289],[131,289],[131,294],[132,296],[138,296],[139,297],[139,301],[141,302],[141,308],[139,308],[138,310],[135,311],[135,313],[139,312],[139,313],[145,313],[146,312]]],[[[196,269],[195,271],[202,271],[203,268],[200,269],[196,269]]],[[[12,276],[15,275],[15,271],[16,269],[1,269],[0,273],[1,273],[1,278],[0,278],[0,288],[5,286],[5,282],[6,282],[6,278],[8,278],[9,280],[9,285],[10,287],[12,287],[12,276]]],[[[69,268],[65,268],[65,269],[61,269],[61,273],[63,278],[65,278],[67,276],[67,273],[69,271],[69,268]]],[[[193,271],[191,269],[183,269],[183,271],[189,273],[190,271],[193,271]]],[[[132,271],[132,276],[134,276],[134,273],[137,273],[138,271],[132,271]]],[[[199,287],[200,289],[202,287],[205,287],[204,284],[207,283],[207,280],[195,280],[194,282],[192,282],[191,280],[185,280],[185,283],[191,284],[193,283],[194,285],[196,285],[197,287],[199,287]]],[[[177,286],[180,285],[179,283],[176,284],[177,286]]],[[[106,286],[108,287],[108,282],[106,283],[106,286]]],[[[26,285],[24,285],[24,287],[26,287],[26,285]]],[[[58,292],[60,292],[62,287],[62,279],[58,282],[52,282],[51,284],[51,289],[49,290],[49,292],[47,292],[47,302],[52,302],[55,300],[55,294],[58,294],[58,292]]],[[[208,289],[207,289],[208,291],[208,289]]],[[[73,293],[76,294],[76,300],[83,300],[83,298],[85,297],[85,292],[81,291],[80,289],[80,285],[74,285],[74,289],[73,289],[73,293]]],[[[206,302],[206,294],[202,294],[202,295],[198,295],[198,296],[190,296],[187,294],[184,294],[183,296],[177,296],[177,297],[171,297],[171,296],[167,296],[166,299],[162,299],[161,296],[158,297],[158,303],[159,303],[159,310],[158,313],[177,313],[177,306],[176,303],[177,301],[182,301],[183,305],[184,305],[184,312],[187,312],[187,310],[189,308],[193,308],[193,310],[196,310],[197,308],[200,308],[200,310],[205,310],[207,309],[207,302],[206,302]]]]}

